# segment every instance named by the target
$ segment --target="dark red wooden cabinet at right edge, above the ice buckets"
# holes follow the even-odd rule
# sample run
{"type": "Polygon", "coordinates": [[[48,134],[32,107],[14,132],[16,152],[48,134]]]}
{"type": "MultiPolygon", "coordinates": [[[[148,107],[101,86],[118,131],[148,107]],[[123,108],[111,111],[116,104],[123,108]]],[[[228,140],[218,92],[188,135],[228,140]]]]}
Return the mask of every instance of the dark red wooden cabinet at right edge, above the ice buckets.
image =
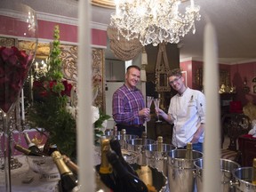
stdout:
{"type": "Polygon", "coordinates": [[[242,166],[252,166],[253,158],[256,158],[256,138],[242,135],[238,138],[239,150],[242,153],[242,166]]]}

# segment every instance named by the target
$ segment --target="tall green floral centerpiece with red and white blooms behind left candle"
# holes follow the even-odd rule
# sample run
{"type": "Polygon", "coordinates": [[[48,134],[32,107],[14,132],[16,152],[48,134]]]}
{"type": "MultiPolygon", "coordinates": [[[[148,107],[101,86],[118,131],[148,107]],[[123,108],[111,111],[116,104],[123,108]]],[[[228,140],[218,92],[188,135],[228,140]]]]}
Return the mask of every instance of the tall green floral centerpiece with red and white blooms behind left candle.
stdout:
{"type": "MultiPolygon", "coordinates": [[[[63,79],[60,60],[60,29],[54,29],[52,52],[48,60],[45,76],[40,76],[33,84],[35,100],[28,111],[31,127],[44,128],[48,142],[56,144],[61,153],[76,156],[76,105],[73,105],[72,93],[75,88],[63,79]],[[71,97],[71,98],[70,98],[71,97]]],[[[102,123],[110,116],[98,112],[94,116],[95,141],[103,134],[102,123]]],[[[41,132],[37,129],[38,132],[41,132]]]]}

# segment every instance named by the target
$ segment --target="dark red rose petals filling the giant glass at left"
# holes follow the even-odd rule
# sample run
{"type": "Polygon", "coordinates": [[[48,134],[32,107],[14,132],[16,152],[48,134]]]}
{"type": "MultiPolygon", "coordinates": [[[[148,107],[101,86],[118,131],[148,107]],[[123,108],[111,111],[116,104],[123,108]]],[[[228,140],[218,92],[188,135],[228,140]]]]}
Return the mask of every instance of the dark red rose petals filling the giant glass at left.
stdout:
{"type": "Polygon", "coordinates": [[[7,113],[17,100],[32,56],[12,46],[0,48],[0,108],[7,113]]]}

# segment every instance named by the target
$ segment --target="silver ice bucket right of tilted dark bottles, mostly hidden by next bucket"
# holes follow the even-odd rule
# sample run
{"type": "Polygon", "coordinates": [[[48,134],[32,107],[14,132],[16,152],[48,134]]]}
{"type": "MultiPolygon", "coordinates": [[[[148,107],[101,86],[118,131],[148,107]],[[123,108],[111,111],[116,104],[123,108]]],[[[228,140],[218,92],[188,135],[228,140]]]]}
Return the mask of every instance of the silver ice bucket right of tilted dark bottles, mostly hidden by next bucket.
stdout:
{"type": "Polygon", "coordinates": [[[155,144],[156,140],[150,140],[145,139],[145,143],[143,143],[144,140],[142,139],[133,139],[133,140],[126,140],[126,149],[130,151],[135,151],[140,154],[138,164],[146,164],[146,160],[143,160],[143,156],[145,153],[145,148],[149,144],[155,144]]]}

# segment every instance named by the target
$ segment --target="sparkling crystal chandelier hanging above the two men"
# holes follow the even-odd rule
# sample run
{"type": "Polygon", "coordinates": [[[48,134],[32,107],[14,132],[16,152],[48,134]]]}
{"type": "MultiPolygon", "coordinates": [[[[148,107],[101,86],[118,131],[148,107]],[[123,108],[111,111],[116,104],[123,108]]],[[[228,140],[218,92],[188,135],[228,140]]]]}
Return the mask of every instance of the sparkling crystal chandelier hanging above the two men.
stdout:
{"type": "Polygon", "coordinates": [[[200,7],[194,0],[190,2],[181,13],[180,0],[116,0],[110,26],[117,28],[127,40],[139,38],[143,46],[162,42],[178,44],[191,28],[195,34],[195,20],[201,17],[200,7]]]}

